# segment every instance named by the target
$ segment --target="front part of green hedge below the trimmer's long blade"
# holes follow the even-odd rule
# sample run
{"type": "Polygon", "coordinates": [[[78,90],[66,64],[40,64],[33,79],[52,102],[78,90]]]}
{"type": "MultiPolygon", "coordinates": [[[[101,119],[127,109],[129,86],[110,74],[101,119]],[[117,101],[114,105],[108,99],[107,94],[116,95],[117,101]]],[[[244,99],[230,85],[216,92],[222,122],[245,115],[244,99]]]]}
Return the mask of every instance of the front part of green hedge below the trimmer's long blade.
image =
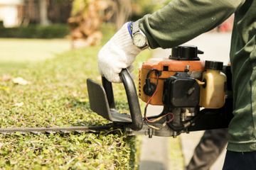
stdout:
{"type": "Polygon", "coordinates": [[[0,150],[4,169],[125,169],[130,166],[133,139],[104,134],[15,134],[1,142],[5,142],[0,150]]]}

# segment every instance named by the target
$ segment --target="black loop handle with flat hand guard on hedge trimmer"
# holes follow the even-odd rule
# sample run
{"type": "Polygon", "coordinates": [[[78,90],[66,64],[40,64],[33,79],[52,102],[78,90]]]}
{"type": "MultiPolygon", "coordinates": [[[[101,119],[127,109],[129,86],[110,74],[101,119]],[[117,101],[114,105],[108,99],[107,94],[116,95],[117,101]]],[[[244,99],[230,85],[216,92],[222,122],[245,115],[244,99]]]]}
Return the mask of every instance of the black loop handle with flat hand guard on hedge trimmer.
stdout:
{"type": "Polygon", "coordinates": [[[142,112],[134,81],[127,69],[123,69],[119,76],[127,94],[130,115],[118,113],[115,109],[112,83],[107,81],[105,77],[102,77],[102,86],[91,79],[87,79],[90,108],[107,120],[125,124],[132,130],[141,130],[143,126],[142,112]]]}

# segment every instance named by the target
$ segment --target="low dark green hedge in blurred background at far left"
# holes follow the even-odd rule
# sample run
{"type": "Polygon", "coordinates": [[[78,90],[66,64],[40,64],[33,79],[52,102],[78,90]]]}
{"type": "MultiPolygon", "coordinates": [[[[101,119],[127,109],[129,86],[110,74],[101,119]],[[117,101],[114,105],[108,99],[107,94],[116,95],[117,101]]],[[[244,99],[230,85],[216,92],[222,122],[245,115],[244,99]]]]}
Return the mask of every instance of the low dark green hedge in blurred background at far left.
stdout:
{"type": "Polygon", "coordinates": [[[70,33],[68,25],[39,26],[31,25],[18,28],[0,26],[0,38],[64,38],[70,33]]]}

